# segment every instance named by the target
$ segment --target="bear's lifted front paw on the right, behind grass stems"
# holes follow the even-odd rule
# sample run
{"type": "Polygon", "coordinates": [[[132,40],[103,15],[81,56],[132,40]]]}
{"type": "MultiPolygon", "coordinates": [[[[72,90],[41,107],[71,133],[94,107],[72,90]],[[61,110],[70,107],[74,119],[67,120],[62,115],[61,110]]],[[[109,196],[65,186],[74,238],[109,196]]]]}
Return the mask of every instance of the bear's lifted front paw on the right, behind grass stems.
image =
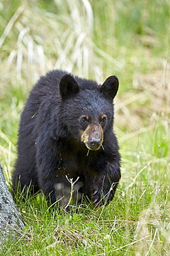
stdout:
{"type": "Polygon", "coordinates": [[[107,163],[106,169],[96,175],[91,195],[94,205],[104,205],[113,199],[120,176],[119,163],[107,163]]]}

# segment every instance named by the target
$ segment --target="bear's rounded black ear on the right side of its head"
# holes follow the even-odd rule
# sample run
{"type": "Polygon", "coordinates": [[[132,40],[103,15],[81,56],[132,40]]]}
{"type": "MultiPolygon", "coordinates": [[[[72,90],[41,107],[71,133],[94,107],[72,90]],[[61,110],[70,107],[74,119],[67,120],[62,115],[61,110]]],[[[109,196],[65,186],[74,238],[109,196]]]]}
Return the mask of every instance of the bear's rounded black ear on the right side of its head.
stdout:
{"type": "Polygon", "coordinates": [[[107,80],[102,84],[100,91],[106,98],[111,98],[113,100],[118,91],[118,78],[115,75],[107,77],[107,80]]]}

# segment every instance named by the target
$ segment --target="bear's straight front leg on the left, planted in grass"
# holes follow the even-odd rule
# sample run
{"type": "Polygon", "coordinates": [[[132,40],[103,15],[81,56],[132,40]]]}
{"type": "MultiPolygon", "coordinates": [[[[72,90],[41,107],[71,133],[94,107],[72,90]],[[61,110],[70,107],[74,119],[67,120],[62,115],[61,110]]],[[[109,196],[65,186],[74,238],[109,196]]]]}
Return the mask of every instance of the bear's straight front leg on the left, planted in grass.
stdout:
{"type": "MultiPolygon", "coordinates": [[[[42,134],[42,133],[41,133],[42,134]]],[[[63,184],[64,169],[61,170],[59,149],[56,141],[47,136],[39,136],[36,143],[36,167],[39,181],[39,188],[47,196],[50,204],[62,199],[56,197],[56,184],[63,184]]]]}

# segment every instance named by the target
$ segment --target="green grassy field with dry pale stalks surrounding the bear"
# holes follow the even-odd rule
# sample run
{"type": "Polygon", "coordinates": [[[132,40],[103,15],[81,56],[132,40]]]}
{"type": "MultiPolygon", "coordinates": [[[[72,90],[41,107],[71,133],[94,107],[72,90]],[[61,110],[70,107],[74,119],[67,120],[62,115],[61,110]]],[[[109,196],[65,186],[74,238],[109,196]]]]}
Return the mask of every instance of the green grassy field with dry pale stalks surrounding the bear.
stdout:
{"type": "Polygon", "coordinates": [[[0,161],[10,185],[19,118],[54,68],[120,80],[114,130],[122,179],[103,208],[52,212],[17,201],[27,223],[1,255],[170,255],[169,0],[0,2],[0,161]]]}

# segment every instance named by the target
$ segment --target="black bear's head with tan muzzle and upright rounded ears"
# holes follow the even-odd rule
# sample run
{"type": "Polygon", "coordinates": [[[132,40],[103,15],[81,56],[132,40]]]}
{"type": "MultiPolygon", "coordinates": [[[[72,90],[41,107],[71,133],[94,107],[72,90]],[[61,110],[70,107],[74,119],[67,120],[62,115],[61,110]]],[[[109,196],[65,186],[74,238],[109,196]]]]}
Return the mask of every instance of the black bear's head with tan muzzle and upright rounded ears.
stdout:
{"type": "Polygon", "coordinates": [[[113,99],[118,78],[111,75],[102,85],[72,75],[64,75],[59,84],[63,125],[76,143],[87,149],[103,147],[105,134],[113,131],[113,99]]]}

